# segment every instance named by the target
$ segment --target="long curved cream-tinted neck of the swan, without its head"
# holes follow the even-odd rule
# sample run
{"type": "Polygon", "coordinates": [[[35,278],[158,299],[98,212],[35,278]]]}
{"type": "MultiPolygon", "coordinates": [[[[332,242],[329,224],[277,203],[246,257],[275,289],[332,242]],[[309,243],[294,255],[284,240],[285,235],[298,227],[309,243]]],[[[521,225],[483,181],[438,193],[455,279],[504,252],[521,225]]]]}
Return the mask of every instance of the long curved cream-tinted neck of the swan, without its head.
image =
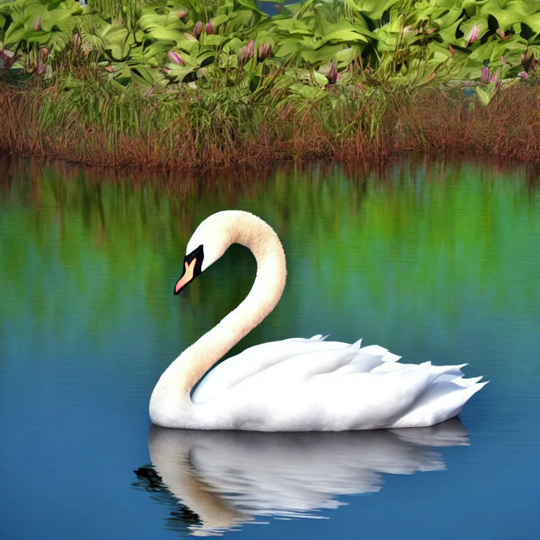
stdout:
{"type": "Polygon", "coordinates": [[[162,415],[180,413],[179,407],[186,403],[198,380],[276,307],[283,294],[287,271],[278,236],[262,219],[239,214],[229,224],[229,245],[239,243],[251,250],[257,261],[255,282],[236,309],[182,352],[161,375],[150,398],[154,423],[164,425],[167,420],[162,420],[162,415]]]}

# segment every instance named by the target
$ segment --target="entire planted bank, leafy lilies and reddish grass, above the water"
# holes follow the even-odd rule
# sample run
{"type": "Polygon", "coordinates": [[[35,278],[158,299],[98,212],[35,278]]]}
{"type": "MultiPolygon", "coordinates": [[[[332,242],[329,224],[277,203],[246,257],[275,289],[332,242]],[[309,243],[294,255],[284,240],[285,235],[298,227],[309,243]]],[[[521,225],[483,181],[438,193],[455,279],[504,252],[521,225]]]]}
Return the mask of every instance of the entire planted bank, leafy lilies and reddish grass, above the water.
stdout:
{"type": "Polygon", "coordinates": [[[540,162],[540,1],[260,6],[0,0],[0,151],[199,171],[407,150],[540,162]]]}

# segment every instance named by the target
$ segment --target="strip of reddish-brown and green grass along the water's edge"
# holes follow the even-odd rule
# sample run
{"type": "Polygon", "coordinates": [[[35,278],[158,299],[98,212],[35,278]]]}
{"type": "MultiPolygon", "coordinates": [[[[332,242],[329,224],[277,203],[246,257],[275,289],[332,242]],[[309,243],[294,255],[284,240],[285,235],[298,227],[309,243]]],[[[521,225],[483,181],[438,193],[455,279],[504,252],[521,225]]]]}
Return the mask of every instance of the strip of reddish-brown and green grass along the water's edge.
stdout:
{"type": "MultiPolygon", "coordinates": [[[[75,79],[74,79],[75,80],[75,79]]],[[[540,161],[540,85],[482,105],[467,89],[316,89],[278,101],[187,89],[109,97],[88,81],[0,84],[0,151],[104,167],[260,167],[288,160],[386,160],[407,150],[540,161]]]]}

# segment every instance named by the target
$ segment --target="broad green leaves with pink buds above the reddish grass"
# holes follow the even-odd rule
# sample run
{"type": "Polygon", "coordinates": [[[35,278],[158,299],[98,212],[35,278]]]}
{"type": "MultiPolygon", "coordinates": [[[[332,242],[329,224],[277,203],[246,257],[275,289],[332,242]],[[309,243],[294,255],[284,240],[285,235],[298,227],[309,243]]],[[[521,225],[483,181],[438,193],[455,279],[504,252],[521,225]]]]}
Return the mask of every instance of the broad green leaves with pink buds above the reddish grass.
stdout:
{"type": "Polygon", "coordinates": [[[273,17],[255,0],[0,0],[11,77],[84,68],[148,97],[184,84],[261,98],[283,76],[417,89],[478,81],[484,66],[499,88],[536,77],[539,36],[538,0],[305,0],[273,17]]]}

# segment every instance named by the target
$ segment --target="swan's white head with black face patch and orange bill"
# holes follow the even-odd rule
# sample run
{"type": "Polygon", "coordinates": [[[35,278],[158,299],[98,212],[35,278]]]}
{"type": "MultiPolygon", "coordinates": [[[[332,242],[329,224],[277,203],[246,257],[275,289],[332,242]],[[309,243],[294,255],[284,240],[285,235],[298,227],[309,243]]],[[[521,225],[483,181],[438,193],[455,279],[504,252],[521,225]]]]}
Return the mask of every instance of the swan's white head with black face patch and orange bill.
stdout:
{"type": "MultiPolygon", "coordinates": [[[[234,211],[217,212],[207,217],[195,229],[186,247],[184,268],[174,285],[174,294],[179,295],[199,274],[224,254],[231,245],[231,218],[234,211]]],[[[239,212],[238,212],[239,213],[239,212]]]]}

